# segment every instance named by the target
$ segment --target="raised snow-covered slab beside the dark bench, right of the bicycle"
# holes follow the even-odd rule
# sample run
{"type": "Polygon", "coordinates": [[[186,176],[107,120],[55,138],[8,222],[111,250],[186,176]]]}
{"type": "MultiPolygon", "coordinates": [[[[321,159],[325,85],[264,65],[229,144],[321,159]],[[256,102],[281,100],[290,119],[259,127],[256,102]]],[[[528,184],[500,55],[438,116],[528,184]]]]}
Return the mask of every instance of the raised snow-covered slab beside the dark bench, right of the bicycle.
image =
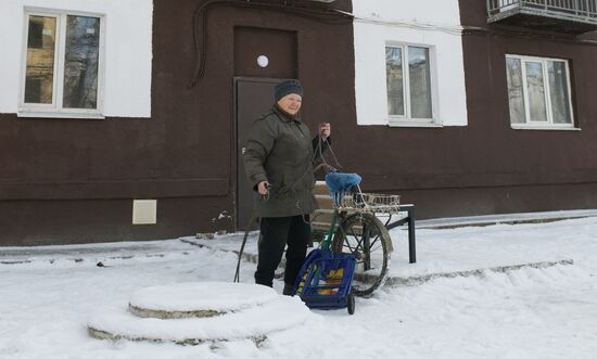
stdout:
{"type": "Polygon", "coordinates": [[[406,230],[390,232],[394,245],[390,278],[421,278],[491,268],[575,260],[575,236],[594,218],[557,222],[417,230],[417,262],[408,262],[406,230]],[[557,244],[556,244],[557,243],[557,244]],[[556,251],[554,248],[557,248],[556,251]]]}

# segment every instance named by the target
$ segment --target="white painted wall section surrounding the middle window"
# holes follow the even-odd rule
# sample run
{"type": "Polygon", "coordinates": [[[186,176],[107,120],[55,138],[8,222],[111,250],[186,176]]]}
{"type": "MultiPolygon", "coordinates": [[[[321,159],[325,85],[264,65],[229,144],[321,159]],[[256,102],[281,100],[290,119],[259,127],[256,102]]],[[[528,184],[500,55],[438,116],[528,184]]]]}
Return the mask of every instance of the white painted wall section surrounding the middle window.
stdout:
{"type": "Polygon", "coordinates": [[[467,102],[458,0],[354,0],[358,125],[388,125],[385,44],[430,46],[435,53],[434,117],[466,126],[467,102]]]}

